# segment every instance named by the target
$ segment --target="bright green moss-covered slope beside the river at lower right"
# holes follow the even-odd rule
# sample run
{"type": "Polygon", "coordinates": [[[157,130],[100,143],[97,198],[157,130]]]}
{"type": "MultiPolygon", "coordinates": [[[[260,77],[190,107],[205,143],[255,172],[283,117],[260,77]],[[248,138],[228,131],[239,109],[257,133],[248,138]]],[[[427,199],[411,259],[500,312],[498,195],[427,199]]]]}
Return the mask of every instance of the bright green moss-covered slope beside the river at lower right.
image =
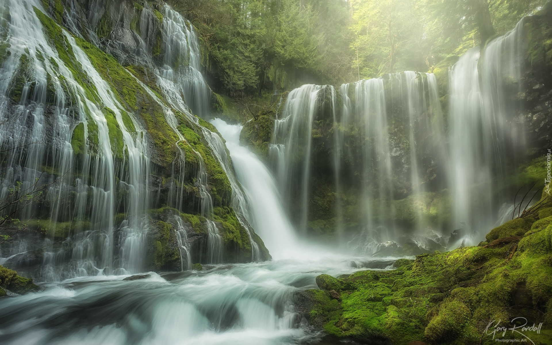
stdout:
{"type": "MultiPolygon", "coordinates": [[[[490,242],[476,247],[421,254],[413,262],[401,259],[395,270],[361,271],[341,279],[321,275],[316,279],[320,290],[302,293],[299,305],[307,320],[329,335],[367,343],[490,344],[495,342],[493,325],[501,320],[500,326],[512,327],[515,317],[524,317],[529,326],[543,322],[540,333],[523,333],[535,344],[549,343],[550,211],[542,208],[541,216],[509,221],[490,232],[490,242]]],[[[524,338],[498,333],[495,339],[524,338]]]]}

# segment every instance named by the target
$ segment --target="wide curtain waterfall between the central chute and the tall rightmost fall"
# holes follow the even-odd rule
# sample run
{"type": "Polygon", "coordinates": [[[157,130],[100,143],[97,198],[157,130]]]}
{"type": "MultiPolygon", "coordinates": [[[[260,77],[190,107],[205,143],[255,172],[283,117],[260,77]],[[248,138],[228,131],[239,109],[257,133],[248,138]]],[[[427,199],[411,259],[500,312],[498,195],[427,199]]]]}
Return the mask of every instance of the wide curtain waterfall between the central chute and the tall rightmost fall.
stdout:
{"type": "Polygon", "coordinates": [[[397,181],[397,171],[407,178],[408,193],[416,205],[415,232],[428,231],[422,215],[423,211],[429,212],[424,199],[427,181],[421,177],[421,166],[427,166],[431,160],[433,166],[444,169],[447,161],[443,114],[437,80],[432,73],[406,71],[363,79],[343,84],[339,92],[329,86],[302,86],[290,92],[280,116],[282,120],[275,120],[270,154],[280,188],[300,190],[300,195],[284,194],[288,203],[293,198],[302,200],[298,226],[307,224],[307,196],[316,188],[311,185],[312,174],[316,172],[309,171],[312,137],[332,130],[330,164],[336,192],[336,217],[332,224],[340,230],[338,236],[343,236],[339,233],[344,227],[351,227],[344,224],[346,208],[342,195],[352,188],[360,190],[362,205],[358,210],[362,240],[355,238],[351,242],[357,250],[374,253],[381,243],[395,241],[404,233],[394,221],[396,194],[404,193],[397,189],[406,188],[397,181]],[[322,89],[329,91],[328,99],[320,94],[322,89]],[[325,121],[331,122],[331,129],[321,125],[325,121]],[[400,141],[401,135],[407,141],[400,141]],[[294,180],[299,181],[298,185],[290,187],[289,181],[294,180]]]}

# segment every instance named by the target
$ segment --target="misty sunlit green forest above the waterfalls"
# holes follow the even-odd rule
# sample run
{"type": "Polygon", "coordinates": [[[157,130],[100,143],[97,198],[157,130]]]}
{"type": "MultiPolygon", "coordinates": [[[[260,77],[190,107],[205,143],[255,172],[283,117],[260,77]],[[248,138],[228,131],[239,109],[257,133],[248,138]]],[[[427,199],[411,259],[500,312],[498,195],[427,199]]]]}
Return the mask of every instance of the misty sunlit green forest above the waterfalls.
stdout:
{"type": "Polygon", "coordinates": [[[511,30],[545,0],[172,1],[197,28],[216,92],[341,84],[443,60],[511,30]],[[279,73],[277,73],[279,71],[279,73]]]}

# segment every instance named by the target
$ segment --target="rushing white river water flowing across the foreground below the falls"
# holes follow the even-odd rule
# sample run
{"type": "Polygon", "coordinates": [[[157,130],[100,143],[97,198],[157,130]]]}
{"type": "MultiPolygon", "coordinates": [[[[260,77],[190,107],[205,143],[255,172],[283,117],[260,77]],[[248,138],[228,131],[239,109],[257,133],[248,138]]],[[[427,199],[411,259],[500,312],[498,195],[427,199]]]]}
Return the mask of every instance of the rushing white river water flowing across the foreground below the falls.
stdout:
{"type": "MultiPolygon", "coordinates": [[[[0,304],[2,343],[9,345],[264,345],[316,342],[296,316],[294,293],[316,288],[322,273],[358,270],[363,258],[219,265],[204,272],[87,277],[0,304]]],[[[381,264],[381,263],[380,263],[381,264]]]]}

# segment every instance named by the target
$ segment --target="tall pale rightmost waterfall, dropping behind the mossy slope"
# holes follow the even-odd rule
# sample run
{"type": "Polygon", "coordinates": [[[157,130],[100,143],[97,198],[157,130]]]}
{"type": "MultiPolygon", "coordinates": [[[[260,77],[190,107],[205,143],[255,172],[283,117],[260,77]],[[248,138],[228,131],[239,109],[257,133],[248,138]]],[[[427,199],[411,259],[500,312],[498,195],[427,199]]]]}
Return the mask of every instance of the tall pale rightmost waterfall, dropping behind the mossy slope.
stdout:
{"type": "Polygon", "coordinates": [[[450,72],[450,181],[454,223],[465,228],[466,244],[476,244],[495,226],[510,197],[502,191],[509,167],[526,152],[514,102],[522,27],[523,19],[483,52],[469,50],[450,72]]]}

